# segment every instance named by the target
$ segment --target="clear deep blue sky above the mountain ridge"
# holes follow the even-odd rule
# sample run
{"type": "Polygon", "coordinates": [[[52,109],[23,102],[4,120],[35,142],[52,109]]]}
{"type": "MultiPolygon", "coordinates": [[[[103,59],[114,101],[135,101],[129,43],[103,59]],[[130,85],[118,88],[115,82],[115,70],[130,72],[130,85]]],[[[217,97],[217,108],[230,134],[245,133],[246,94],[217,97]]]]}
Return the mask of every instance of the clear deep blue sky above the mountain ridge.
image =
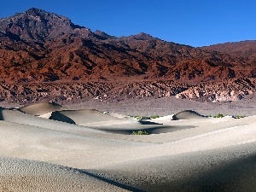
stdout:
{"type": "Polygon", "coordinates": [[[116,37],[146,32],[195,47],[256,40],[255,0],[0,0],[0,4],[1,18],[34,7],[116,37]]]}

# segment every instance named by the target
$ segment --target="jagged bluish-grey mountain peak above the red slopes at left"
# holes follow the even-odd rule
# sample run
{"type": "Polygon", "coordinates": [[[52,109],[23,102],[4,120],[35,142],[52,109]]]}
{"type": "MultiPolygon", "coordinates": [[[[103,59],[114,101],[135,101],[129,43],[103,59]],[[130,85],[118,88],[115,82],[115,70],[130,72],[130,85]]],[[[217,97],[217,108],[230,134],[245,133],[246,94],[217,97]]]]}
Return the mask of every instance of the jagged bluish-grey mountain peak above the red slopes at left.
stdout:
{"type": "Polygon", "coordinates": [[[36,8],[1,19],[0,31],[29,41],[45,41],[64,34],[76,34],[86,38],[91,33],[85,27],[74,25],[67,17],[36,8]]]}

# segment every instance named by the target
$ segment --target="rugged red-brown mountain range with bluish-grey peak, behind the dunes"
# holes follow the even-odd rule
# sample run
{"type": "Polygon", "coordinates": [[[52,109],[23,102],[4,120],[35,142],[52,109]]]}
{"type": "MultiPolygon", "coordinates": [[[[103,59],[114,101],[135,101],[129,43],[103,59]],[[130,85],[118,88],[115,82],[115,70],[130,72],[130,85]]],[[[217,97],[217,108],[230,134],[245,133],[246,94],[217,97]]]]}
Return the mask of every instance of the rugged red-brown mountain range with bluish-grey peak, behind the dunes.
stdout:
{"type": "MultiPolygon", "coordinates": [[[[24,97],[26,101],[37,100],[37,89],[32,86],[41,84],[42,87],[47,83],[47,88],[42,88],[47,96],[55,89],[55,84],[72,84],[67,85],[73,89],[70,88],[66,97],[62,98],[61,92],[55,96],[62,100],[103,95],[118,100],[144,96],[196,99],[207,96],[206,84],[214,84],[211,85],[214,87],[220,82],[234,83],[237,79],[253,82],[256,77],[253,54],[236,55],[236,51],[194,48],[143,32],[116,38],[105,32],[91,32],[64,16],[32,8],[0,20],[0,97],[3,101],[8,100],[6,95],[12,100],[17,96],[20,101],[25,101],[24,97]],[[20,88],[13,90],[9,84],[20,88]],[[77,86],[85,86],[87,93],[77,86]],[[182,94],[193,87],[202,89],[201,93],[205,94],[196,98],[189,93],[182,94]]],[[[249,93],[245,89],[241,96],[236,91],[233,95],[237,99],[249,93]]],[[[209,100],[217,98],[212,94],[209,100]]]]}

